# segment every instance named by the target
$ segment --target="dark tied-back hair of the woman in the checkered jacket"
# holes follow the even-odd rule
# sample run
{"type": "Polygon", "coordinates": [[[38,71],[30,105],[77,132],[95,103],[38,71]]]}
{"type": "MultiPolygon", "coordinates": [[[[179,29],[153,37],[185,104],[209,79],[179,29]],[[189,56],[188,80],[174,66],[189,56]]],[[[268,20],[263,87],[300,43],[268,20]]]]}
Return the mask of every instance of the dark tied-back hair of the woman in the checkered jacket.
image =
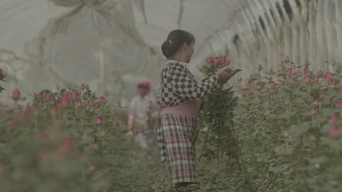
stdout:
{"type": "Polygon", "coordinates": [[[169,59],[178,51],[179,47],[184,42],[186,44],[190,44],[191,42],[194,43],[194,36],[184,30],[172,30],[168,34],[167,39],[161,45],[162,54],[169,59]]]}

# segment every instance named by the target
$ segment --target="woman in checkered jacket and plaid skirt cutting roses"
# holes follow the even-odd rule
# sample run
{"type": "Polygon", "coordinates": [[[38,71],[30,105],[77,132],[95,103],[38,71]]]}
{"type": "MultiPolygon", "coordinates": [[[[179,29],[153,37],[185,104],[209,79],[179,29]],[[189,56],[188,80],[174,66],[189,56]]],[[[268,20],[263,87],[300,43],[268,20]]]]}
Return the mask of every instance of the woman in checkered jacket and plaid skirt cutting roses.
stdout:
{"type": "Polygon", "coordinates": [[[219,89],[230,76],[224,67],[197,84],[186,63],[194,51],[194,36],[183,30],[171,31],[161,45],[168,59],[161,72],[157,103],[161,108],[157,140],[161,162],[167,161],[172,183],[180,187],[195,184],[197,170],[192,139],[199,114],[198,101],[219,89]]]}

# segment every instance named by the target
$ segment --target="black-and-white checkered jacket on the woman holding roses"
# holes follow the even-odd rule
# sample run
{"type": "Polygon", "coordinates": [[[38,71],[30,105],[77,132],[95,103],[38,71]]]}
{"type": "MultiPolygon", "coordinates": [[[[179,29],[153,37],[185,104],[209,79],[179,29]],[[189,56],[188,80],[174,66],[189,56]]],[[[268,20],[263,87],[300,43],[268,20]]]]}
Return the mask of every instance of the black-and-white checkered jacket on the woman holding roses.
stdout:
{"type": "Polygon", "coordinates": [[[169,60],[161,71],[157,103],[160,108],[175,106],[185,100],[200,101],[220,87],[218,74],[197,84],[186,63],[169,60]]]}

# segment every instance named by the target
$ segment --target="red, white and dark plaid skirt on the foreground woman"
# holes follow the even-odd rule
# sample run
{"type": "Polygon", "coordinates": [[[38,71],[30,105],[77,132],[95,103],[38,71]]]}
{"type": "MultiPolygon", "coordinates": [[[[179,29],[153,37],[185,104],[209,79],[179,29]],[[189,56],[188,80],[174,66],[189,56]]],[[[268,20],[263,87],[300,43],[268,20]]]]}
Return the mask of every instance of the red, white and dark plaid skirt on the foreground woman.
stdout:
{"type": "Polygon", "coordinates": [[[157,123],[157,142],[161,162],[167,161],[172,183],[195,183],[195,141],[197,118],[160,114],[157,123]]]}

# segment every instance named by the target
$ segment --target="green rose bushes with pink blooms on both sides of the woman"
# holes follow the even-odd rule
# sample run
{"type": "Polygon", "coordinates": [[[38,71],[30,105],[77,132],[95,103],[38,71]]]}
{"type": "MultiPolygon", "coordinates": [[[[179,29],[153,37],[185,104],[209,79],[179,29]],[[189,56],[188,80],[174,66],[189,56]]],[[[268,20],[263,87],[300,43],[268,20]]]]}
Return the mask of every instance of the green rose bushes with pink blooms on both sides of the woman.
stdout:
{"type": "MultiPolygon", "coordinates": [[[[208,58],[204,80],[229,62],[208,58]]],[[[255,66],[240,90],[206,96],[192,191],[341,192],[342,67],[330,64],[334,71],[312,71],[286,57],[278,69],[255,66]]],[[[2,70],[0,80],[7,91],[2,70]]],[[[16,89],[13,105],[0,106],[1,192],[174,191],[157,144],[129,142],[119,103],[84,84],[29,97],[17,104],[16,89]]]]}

